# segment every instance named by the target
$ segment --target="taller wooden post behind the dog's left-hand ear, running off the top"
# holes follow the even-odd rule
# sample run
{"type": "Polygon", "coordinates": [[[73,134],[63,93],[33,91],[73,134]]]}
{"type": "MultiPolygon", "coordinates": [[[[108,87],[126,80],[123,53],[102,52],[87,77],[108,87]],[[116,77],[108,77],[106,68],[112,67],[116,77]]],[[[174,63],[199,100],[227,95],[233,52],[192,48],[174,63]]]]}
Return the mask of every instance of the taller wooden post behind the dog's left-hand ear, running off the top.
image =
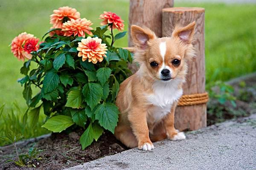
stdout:
{"type": "Polygon", "coordinates": [[[129,47],[131,25],[148,27],[157,37],[162,37],[162,9],[173,7],[173,0],[130,0],[129,12],[129,47]]]}

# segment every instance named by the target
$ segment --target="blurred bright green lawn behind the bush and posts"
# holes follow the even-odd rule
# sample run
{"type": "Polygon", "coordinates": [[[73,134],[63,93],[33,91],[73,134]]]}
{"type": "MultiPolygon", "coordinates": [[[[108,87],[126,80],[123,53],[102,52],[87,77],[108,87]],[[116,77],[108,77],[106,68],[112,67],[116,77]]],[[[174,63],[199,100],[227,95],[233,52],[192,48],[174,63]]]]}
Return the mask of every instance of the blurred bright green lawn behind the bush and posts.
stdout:
{"type": "MultiPolygon", "coordinates": [[[[22,96],[23,88],[16,82],[22,77],[19,68],[23,64],[13,57],[8,46],[12,39],[23,31],[41,38],[51,26],[49,15],[53,9],[61,6],[76,8],[81,17],[92,20],[93,28],[98,26],[99,14],[103,11],[113,11],[125,21],[125,30],[128,28],[128,0],[0,0],[0,105],[6,103],[5,110],[0,117],[0,127],[18,125],[24,111],[26,102],[22,96]],[[20,112],[13,112],[13,102],[17,101],[20,112]],[[12,114],[17,119],[12,119],[12,114]],[[11,116],[10,116],[11,115],[11,116]],[[3,117],[5,116],[5,117],[3,117]],[[8,118],[10,117],[10,119],[8,118]],[[9,121],[4,121],[7,119],[9,121]]],[[[180,4],[175,6],[200,6],[206,8],[205,13],[205,56],[206,81],[226,81],[256,71],[256,5],[224,5],[224,4],[180,4]]],[[[139,16],[138,16],[139,17],[139,16]]],[[[119,47],[127,46],[127,36],[116,41],[119,47]]],[[[43,115],[40,117],[43,122],[43,115]]],[[[24,129],[28,136],[38,136],[44,133],[40,125],[31,129],[24,129]],[[40,132],[36,131],[39,130],[40,132]]],[[[4,135],[4,132],[0,135],[4,135]]],[[[1,142],[0,142],[1,145],[1,142]]]]}

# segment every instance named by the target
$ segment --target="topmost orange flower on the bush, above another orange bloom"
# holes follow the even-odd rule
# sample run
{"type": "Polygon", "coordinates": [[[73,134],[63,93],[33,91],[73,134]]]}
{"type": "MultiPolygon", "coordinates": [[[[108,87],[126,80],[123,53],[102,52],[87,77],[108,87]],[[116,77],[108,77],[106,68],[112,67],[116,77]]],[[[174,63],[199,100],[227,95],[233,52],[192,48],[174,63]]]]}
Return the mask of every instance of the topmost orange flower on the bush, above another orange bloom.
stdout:
{"type": "Polygon", "coordinates": [[[62,24],[68,20],[76,20],[80,18],[80,13],[75,8],[68,6],[60,7],[53,10],[53,14],[50,15],[50,23],[53,25],[52,28],[61,28],[62,24]]]}

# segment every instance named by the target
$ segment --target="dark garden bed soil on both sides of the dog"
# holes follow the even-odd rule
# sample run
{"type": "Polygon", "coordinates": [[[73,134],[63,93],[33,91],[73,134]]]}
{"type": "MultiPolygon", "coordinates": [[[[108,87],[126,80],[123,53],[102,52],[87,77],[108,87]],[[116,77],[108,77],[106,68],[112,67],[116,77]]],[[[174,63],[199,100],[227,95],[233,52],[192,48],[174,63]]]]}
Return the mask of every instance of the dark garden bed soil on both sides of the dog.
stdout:
{"type": "MultiPolygon", "coordinates": [[[[256,76],[231,84],[234,87],[233,95],[236,96],[236,107],[230,102],[221,105],[217,99],[211,99],[207,108],[207,125],[256,113],[256,76]]],[[[17,144],[19,153],[27,153],[30,147],[45,149],[39,154],[42,159],[33,162],[36,165],[35,168],[17,167],[13,162],[5,163],[15,158],[15,150],[12,145],[0,147],[0,168],[4,170],[61,170],[127,150],[110,132],[104,132],[97,142],[93,142],[91,146],[82,150],[79,144],[79,136],[82,132],[78,130],[69,134],[53,133],[36,142],[17,144]]]]}

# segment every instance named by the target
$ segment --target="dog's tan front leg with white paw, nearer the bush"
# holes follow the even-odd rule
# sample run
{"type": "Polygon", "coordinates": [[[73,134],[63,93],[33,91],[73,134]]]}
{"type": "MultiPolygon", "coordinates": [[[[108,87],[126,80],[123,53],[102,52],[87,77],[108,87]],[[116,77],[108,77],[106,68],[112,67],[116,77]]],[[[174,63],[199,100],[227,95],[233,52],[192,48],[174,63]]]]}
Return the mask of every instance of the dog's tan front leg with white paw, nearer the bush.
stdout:
{"type": "Polygon", "coordinates": [[[149,139],[146,113],[142,109],[134,108],[128,116],[133,133],[138,140],[138,148],[141,150],[154,149],[154,145],[149,139]]]}

